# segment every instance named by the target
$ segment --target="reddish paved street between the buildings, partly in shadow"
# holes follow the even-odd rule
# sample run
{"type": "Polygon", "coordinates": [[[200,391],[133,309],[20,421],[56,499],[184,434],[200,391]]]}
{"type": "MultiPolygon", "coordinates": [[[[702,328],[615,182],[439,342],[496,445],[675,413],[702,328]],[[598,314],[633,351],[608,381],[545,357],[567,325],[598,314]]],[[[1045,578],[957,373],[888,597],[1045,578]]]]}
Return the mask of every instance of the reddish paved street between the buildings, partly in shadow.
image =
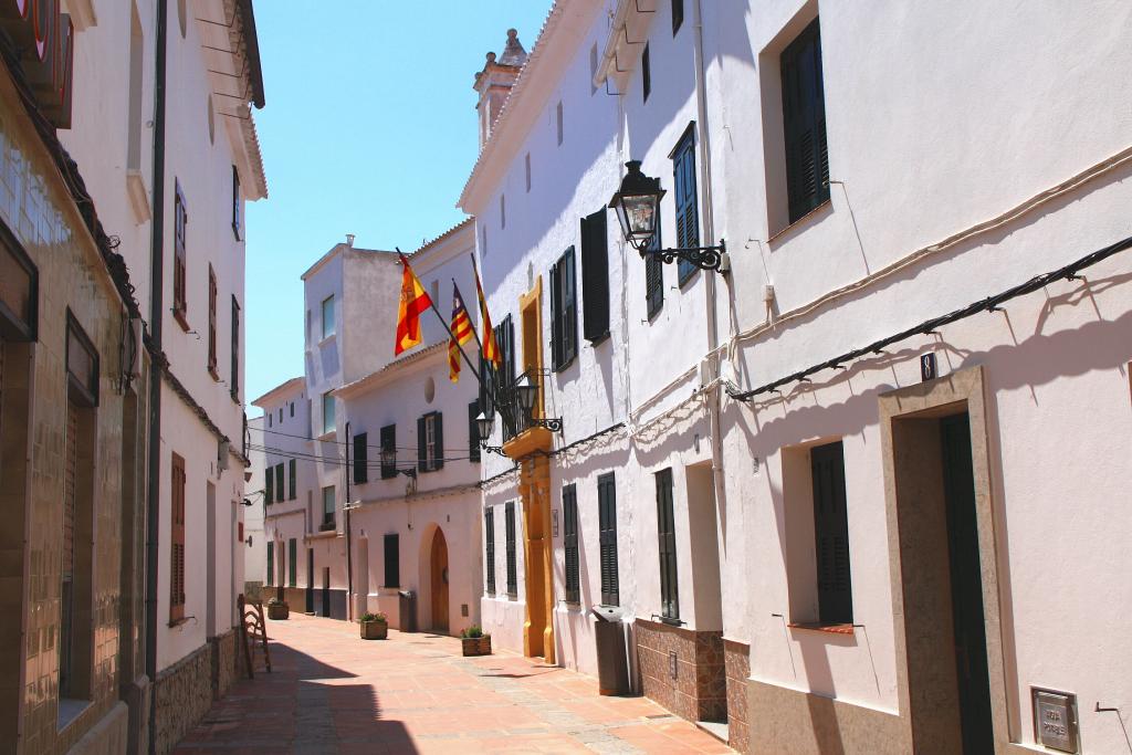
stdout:
{"type": "Polygon", "coordinates": [[[302,615],[268,621],[273,674],[242,680],[177,748],[205,753],[730,753],[645,697],[460,641],[302,615]]]}

